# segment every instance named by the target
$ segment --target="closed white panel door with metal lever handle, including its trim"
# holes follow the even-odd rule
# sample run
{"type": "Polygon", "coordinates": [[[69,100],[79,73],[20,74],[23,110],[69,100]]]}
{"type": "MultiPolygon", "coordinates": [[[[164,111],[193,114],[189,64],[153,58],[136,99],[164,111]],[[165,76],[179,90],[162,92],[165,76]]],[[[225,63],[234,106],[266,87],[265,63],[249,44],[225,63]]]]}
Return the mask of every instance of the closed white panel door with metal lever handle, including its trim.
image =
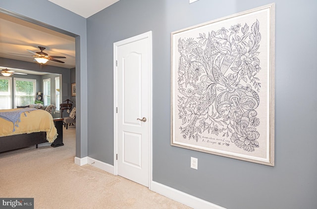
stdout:
{"type": "Polygon", "coordinates": [[[151,32],[114,43],[117,174],[149,186],[151,32]]]}

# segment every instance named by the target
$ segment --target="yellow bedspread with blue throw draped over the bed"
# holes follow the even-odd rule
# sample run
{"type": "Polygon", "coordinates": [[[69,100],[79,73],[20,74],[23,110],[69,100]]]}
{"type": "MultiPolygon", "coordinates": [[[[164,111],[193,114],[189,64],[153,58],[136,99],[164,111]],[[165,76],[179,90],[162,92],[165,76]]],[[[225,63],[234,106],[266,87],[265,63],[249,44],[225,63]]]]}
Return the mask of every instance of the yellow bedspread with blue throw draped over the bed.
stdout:
{"type": "Polygon", "coordinates": [[[50,143],[57,138],[53,117],[48,111],[32,108],[0,110],[0,137],[42,131],[46,132],[50,143]]]}

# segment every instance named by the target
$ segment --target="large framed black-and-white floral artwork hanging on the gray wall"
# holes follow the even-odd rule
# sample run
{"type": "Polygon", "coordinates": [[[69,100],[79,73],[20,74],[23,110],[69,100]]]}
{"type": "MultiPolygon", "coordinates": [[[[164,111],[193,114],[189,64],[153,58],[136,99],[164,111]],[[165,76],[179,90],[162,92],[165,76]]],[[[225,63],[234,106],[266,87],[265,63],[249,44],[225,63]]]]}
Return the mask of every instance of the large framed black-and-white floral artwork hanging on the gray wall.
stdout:
{"type": "Polygon", "coordinates": [[[171,145],[274,166],[274,4],[171,33],[171,145]]]}

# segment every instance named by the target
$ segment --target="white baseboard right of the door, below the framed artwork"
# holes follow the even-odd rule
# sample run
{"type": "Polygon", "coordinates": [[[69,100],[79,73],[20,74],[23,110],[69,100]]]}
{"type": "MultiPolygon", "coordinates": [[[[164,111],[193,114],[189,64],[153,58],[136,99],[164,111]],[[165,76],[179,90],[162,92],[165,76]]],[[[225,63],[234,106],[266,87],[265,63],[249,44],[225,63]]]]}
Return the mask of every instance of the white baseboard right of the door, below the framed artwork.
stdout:
{"type": "Polygon", "coordinates": [[[186,206],[189,206],[193,209],[225,209],[221,206],[217,206],[213,203],[199,199],[197,197],[186,194],[184,192],[165,186],[155,181],[151,182],[151,190],[167,198],[170,198],[186,206]]]}

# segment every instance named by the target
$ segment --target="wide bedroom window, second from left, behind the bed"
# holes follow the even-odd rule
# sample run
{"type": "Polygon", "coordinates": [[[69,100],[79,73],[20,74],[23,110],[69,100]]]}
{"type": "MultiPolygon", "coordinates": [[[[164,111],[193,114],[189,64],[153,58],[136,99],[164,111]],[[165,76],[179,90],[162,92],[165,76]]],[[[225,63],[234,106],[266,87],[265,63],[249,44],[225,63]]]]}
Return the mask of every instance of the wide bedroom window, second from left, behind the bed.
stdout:
{"type": "Polygon", "coordinates": [[[34,104],[36,95],[36,80],[25,78],[14,78],[15,107],[34,104]]]}

